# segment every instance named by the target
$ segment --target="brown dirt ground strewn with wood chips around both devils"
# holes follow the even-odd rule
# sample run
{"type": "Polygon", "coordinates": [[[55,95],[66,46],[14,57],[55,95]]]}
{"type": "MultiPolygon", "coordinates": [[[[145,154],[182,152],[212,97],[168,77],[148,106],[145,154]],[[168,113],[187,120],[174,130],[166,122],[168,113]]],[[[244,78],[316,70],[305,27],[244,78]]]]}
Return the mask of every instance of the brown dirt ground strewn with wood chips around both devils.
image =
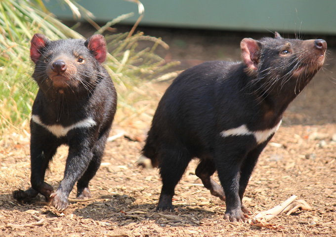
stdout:
{"type": "MultiPolygon", "coordinates": [[[[249,37],[164,30],[145,34],[162,36],[170,45],[167,60],[180,60],[180,69],[213,59],[237,61],[239,42],[249,37]]],[[[197,160],[176,187],[174,211],[156,212],[159,172],[134,164],[151,118],[122,121],[117,112],[110,135],[124,135],[107,143],[103,163],[90,183],[93,198],[74,200],[75,188],[64,213],[42,197],[31,204],[12,198],[12,191],[30,186],[29,131],[4,134],[0,139],[0,236],[336,237],[336,48],[328,51],[326,66],[290,105],[280,129],[259,157],[244,197],[251,218],[292,195],[310,205],[310,210],[269,221],[278,230],[224,220],[225,203],[211,196],[195,175],[197,160]]],[[[153,115],[167,86],[168,82],[152,85],[157,96],[146,114],[153,115]]],[[[67,148],[61,147],[46,174],[46,182],[54,189],[63,178],[66,157],[67,148]]]]}

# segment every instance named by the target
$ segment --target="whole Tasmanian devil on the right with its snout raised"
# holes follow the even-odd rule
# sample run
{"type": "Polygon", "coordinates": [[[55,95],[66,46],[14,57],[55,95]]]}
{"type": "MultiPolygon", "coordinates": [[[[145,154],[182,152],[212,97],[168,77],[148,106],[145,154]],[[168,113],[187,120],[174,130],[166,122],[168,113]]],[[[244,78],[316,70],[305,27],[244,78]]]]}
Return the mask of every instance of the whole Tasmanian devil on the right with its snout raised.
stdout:
{"type": "Polygon", "coordinates": [[[173,80],[155,112],[139,164],[160,168],[158,210],[171,199],[189,161],[226,202],[225,219],[245,221],[242,204],[255,163],[289,103],[322,67],[325,40],[243,39],[243,62],[211,61],[173,80]],[[148,159],[149,158],[149,159],[148,159]],[[147,162],[149,161],[150,162],[147,162]],[[210,176],[217,170],[221,185],[210,176]]]}

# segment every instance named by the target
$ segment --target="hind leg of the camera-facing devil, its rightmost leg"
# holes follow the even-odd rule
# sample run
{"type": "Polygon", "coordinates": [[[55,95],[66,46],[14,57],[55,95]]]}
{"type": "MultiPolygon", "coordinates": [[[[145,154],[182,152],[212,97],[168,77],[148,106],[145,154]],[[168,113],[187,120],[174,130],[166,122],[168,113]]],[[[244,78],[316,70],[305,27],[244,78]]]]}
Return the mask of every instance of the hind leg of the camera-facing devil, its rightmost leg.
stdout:
{"type": "Polygon", "coordinates": [[[91,198],[88,184],[100,167],[108,134],[109,131],[105,132],[105,134],[97,141],[97,144],[93,150],[92,160],[90,161],[83,176],[77,182],[77,199],[91,198]]]}

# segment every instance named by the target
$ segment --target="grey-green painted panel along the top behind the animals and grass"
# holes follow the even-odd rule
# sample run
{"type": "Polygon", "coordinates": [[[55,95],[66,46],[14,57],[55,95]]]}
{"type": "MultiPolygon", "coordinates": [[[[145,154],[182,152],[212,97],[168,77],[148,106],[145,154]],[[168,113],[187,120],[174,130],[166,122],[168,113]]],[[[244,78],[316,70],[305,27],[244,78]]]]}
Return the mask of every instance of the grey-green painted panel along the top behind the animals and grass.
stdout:
{"type": "MultiPolygon", "coordinates": [[[[187,27],[236,31],[279,31],[336,34],[336,0],[141,0],[144,26],[187,27]]],[[[72,18],[66,7],[46,2],[60,18],[72,18]]],[[[97,22],[134,12],[123,22],[138,18],[137,4],[124,0],[80,0],[97,22]]]]}

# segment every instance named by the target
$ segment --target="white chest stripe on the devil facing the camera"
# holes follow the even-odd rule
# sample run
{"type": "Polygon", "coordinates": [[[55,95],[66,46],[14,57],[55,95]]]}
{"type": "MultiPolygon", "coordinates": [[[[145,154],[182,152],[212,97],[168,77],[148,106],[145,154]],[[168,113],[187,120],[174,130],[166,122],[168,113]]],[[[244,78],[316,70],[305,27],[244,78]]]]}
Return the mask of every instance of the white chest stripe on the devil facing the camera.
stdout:
{"type": "Polygon", "coordinates": [[[70,126],[63,127],[62,125],[46,125],[44,124],[38,115],[32,115],[32,120],[47,129],[56,137],[64,137],[67,133],[74,128],[87,128],[96,125],[96,122],[92,118],[84,118],[83,120],[76,122],[70,126]]]}

